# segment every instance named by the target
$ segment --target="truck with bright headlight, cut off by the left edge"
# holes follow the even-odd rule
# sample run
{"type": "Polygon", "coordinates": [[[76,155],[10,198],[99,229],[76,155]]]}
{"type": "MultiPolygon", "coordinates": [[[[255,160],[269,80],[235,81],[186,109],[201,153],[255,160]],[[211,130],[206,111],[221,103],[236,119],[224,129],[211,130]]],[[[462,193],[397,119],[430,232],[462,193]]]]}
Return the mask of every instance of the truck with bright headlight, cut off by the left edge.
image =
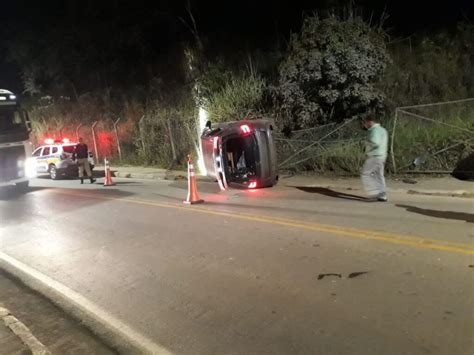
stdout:
{"type": "Polygon", "coordinates": [[[30,132],[28,114],[16,95],[0,89],[0,187],[16,185],[26,190],[35,176],[30,132]]]}

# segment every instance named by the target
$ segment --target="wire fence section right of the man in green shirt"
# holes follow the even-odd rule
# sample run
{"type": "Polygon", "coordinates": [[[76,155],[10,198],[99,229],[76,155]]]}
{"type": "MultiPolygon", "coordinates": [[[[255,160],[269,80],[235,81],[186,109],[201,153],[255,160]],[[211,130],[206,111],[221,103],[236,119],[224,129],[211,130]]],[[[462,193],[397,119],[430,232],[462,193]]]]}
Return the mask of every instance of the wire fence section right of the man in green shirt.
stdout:
{"type": "Polygon", "coordinates": [[[398,107],[391,127],[391,169],[452,171],[474,150],[474,98],[398,107]]]}

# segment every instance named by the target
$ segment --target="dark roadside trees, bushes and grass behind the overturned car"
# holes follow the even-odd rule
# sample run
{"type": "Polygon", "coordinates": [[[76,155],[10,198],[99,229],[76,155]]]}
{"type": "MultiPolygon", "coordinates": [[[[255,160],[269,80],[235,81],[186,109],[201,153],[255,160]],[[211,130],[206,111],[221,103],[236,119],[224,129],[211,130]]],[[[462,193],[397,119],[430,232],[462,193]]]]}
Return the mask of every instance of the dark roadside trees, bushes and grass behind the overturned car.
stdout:
{"type": "MultiPolygon", "coordinates": [[[[100,28],[89,34],[99,33],[94,41],[84,33],[76,38],[73,25],[61,31],[70,36],[60,38],[54,26],[42,32],[32,26],[12,35],[7,46],[21,68],[35,139],[77,134],[92,146],[97,121],[99,156],[117,162],[113,123],[120,118],[122,164],[184,166],[186,154],[199,147],[201,108],[211,121],[273,119],[280,161],[296,154],[283,169],[355,174],[364,158],[361,117],[372,115],[391,131],[396,107],[474,97],[469,23],[393,38],[383,19],[369,23],[347,11],[311,14],[285,47],[219,51],[195,31],[192,40],[167,49],[167,65],[155,67],[139,40],[147,24],[112,43],[100,28]],[[56,51],[47,46],[53,40],[56,51]],[[104,58],[102,49],[110,46],[136,47],[135,66],[104,58]],[[117,77],[140,80],[123,85],[117,77]]],[[[396,161],[389,170],[413,168],[420,156],[418,169],[452,169],[473,151],[473,102],[409,112],[434,121],[398,114],[396,161]]]]}

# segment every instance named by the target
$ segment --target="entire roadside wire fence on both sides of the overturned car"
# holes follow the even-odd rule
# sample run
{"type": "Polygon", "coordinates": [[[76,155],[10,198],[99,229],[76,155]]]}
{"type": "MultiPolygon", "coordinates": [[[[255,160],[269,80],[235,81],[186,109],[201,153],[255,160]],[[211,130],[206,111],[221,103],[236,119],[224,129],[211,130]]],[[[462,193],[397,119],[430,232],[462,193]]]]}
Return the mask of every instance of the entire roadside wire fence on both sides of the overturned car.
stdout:
{"type": "MultiPolygon", "coordinates": [[[[474,98],[398,107],[384,125],[390,133],[388,172],[452,171],[474,151],[474,98]]],[[[37,122],[36,131],[39,144],[45,135],[81,136],[97,161],[107,157],[122,163],[179,166],[199,146],[197,120],[174,113],[151,112],[135,120],[102,118],[89,124],[52,122],[51,127],[37,122]]],[[[296,130],[290,136],[277,133],[279,168],[357,174],[365,160],[366,134],[357,118],[296,130]]]]}

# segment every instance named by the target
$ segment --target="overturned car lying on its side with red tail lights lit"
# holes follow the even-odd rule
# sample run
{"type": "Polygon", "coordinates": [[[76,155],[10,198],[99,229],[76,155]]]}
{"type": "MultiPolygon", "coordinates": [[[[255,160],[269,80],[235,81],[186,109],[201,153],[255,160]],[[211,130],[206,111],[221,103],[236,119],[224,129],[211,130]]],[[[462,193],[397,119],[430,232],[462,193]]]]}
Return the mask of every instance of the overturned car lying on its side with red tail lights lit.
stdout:
{"type": "Polygon", "coordinates": [[[211,125],[201,136],[207,176],[229,187],[255,189],[278,181],[273,124],[244,120],[211,125]]]}

